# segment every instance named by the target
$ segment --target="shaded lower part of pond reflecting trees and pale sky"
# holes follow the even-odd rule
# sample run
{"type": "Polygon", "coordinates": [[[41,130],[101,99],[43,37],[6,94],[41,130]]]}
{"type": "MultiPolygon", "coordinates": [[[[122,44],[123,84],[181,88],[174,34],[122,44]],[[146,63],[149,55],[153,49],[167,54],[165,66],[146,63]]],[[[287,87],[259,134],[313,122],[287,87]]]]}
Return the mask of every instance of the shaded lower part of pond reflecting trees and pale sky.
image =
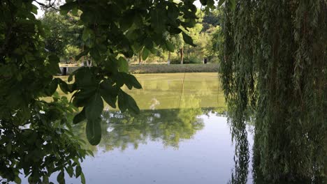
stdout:
{"type": "MultiPolygon", "coordinates": [[[[227,183],[234,149],[226,114],[219,111],[103,112],[103,139],[89,146],[95,158],[82,164],[87,183],[227,183]]],[[[75,126],[80,137],[82,125],[75,126]]]]}

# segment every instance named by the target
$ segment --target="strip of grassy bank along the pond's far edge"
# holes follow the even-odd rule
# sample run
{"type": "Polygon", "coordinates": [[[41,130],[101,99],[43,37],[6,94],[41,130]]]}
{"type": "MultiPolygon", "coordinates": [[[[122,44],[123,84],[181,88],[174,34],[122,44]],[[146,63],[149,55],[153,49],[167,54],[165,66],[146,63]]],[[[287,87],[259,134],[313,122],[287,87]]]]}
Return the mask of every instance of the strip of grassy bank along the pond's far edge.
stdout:
{"type": "Polygon", "coordinates": [[[145,64],[129,66],[131,73],[218,72],[218,64],[145,64]]]}

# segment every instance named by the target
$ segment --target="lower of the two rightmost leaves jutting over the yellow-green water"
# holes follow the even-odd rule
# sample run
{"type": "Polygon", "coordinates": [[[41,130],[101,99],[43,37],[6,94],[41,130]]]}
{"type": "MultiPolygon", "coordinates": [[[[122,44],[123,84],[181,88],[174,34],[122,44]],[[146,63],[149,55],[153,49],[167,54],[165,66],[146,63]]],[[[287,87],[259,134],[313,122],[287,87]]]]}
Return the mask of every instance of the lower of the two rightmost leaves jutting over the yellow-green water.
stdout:
{"type": "Polygon", "coordinates": [[[129,111],[136,114],[140,113],[140,109],[138,108],[138,105],[136,105],[135,100],[131,97],[131,95],[125,93],[122,90],[118,93],[118,107],[122,112],[125,112],[126,109],[129,109],[129,111]]]}

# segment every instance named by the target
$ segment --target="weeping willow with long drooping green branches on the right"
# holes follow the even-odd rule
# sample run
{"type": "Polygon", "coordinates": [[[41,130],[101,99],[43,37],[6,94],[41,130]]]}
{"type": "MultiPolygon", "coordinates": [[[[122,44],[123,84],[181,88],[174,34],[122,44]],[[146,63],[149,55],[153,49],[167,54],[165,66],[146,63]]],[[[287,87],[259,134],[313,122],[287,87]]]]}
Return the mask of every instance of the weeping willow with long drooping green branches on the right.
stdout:
{"type": "MultiPolygon", "coordinates": [[[[220,74],[234,139],[254,121],[254,176],[320,183],[327,174],[326,0],[230,6],[223,7],[220,74]]],[[[244,146],[236,145],[238,153],[244,146]]]]}

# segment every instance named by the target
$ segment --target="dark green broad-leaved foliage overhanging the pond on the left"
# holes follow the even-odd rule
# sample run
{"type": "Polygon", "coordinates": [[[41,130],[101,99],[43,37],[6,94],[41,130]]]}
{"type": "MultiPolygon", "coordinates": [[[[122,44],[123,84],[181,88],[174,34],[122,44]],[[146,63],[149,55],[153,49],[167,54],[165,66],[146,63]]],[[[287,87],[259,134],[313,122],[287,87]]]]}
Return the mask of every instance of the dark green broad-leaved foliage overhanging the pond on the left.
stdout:
{"type": "MultiPolygon", "coordinates": [[[[121,89],[124,85],[129,89],[141,88],[136,78],[126,73],[124,57],[129,58],[141,49],[154,53],[155,47],[166,47],[163,33],[167,31],[172,35],[182,33],[185,43],[193,45],[187,29],[196,24],[196,6],[193,1],[67,0],[60,7],[61,15],[81,13],[74,21],[83,28],[76,35],[81,36],[83,47],[75,59],[89,55],[94,62],[92,68],[73,72],[68,79],[73,83],[67,84],[52,77],[59,71],[63,47],[59,45],[46,52],[45,44],[57,40],[43,42],[48,38],[47,31],[34,16],[37,7],[33,2],[38,3],[0,2],[0,176],[20,183],[18,174],[24,171],[31,183],[48,183],[48,177],[59,169],[59,183],[64,183],[65,172],[80,176],[85,183],[79,162],[86,151],[70,131],[73,107],[65,98],[42,99],[52,96],[57,86],[64,93],[73,93],[74,108],[82,109],[73,123],[86,119],[87,139],[98,144],[103,100],[111,107],[117,102],[122,112],[139,112],[133,98],[121,89]]],[[[60,27],[56,31],[61,31],[60,27]]]]}

